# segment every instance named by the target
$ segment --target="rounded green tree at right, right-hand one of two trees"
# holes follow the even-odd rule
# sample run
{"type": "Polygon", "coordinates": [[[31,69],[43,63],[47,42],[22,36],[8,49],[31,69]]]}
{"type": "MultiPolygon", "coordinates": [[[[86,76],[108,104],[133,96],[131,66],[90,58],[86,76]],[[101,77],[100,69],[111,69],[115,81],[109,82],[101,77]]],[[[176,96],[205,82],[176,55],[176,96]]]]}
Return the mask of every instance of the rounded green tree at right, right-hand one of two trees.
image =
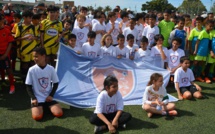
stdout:
{"type": "Polygon", "coordinates": [[[207,11],[201,0],[184,0],[183,3],[178,7],[178,10],[185,14],[197,15],[203,11],[207,11]]]}

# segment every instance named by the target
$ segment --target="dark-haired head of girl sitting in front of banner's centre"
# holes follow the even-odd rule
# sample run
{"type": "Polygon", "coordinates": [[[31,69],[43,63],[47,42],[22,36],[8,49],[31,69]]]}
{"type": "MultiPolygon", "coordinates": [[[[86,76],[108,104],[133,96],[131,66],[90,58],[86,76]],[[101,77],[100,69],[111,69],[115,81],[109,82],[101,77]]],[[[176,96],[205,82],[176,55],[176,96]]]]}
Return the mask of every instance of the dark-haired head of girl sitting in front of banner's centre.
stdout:
{"type": "Polygon", "coordinates": [[[103,85],[109,96],[113,96],[118,91],[118,80],[115,76],[107,76],[103,85]]]}

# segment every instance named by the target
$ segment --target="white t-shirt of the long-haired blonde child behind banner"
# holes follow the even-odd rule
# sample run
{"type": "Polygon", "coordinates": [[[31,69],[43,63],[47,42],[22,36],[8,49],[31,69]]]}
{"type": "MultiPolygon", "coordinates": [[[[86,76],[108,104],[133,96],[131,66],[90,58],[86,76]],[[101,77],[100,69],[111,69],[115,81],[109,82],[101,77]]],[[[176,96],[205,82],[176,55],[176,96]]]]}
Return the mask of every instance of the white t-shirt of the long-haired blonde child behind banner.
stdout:
{"type": "Polygon", "coordinates": [[[114,46],[109,46],[109,47],[102,46],[100,56],[101,57],[105,57],[105,56],[116,57],[116,48],[114,46]]]}

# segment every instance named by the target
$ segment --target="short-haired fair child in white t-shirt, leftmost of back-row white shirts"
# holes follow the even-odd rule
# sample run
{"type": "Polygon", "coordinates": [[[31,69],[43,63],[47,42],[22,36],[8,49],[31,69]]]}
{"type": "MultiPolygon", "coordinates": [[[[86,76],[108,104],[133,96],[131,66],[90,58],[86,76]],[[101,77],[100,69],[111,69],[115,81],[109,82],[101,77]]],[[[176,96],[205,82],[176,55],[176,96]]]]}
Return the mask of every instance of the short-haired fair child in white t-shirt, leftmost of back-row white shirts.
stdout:
{"type": "Polygon", "coordinates": [[[78,26],[74,27],[74,29],[72,30],[72,33],[77,37],[76,46],[79,48],[82,48],[83,44],[87,41],[87,34],[89,32],[89,30],[84,27],[85,20],[86,17],[84,15],[78,15],[78,26]]]}

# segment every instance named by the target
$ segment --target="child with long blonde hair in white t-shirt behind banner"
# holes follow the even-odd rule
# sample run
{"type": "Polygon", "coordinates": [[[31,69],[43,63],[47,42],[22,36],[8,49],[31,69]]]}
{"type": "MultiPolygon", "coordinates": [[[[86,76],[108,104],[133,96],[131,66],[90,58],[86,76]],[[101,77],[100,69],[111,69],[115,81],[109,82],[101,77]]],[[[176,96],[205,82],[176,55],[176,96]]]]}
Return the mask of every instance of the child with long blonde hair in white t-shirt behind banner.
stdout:
{"type": "Polygon", "coordinates": [[[116,57],[116,48],[112,46],[113,40],[110,34],[105,34],[101,41],[100,57],[113,56],[116,57]]]}

